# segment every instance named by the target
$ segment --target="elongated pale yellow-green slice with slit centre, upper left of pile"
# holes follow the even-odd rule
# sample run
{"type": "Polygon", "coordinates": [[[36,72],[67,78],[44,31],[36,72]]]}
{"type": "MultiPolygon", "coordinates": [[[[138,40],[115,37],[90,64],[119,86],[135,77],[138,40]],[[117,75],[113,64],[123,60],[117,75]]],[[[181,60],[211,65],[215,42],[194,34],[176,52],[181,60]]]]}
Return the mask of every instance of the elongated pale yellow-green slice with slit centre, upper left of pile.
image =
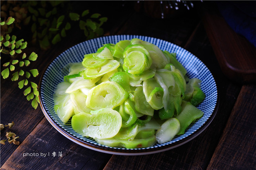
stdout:
{"type": "Polygon", "coordinates": [[[84,70],[83,76],[85,79],[92,79],[102,76],[110,71],[117,69],[120,63],[116,60],[108,60],[108,62],[98,68],[87,68],[84,70]]]}

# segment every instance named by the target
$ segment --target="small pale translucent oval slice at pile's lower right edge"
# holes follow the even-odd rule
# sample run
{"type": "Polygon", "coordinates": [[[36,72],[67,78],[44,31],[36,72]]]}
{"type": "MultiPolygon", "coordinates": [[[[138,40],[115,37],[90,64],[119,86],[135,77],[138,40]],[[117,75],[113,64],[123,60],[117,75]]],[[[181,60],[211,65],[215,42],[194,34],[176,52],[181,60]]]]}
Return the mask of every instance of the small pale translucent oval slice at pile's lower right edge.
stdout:
{"type": "Polygon", "coordinates": [[[158,143],[171,141],[179,130],[179,120],[176,118],[170,118],[161,125],[160,129],[156,131],[156,141],[158,143]]]}

